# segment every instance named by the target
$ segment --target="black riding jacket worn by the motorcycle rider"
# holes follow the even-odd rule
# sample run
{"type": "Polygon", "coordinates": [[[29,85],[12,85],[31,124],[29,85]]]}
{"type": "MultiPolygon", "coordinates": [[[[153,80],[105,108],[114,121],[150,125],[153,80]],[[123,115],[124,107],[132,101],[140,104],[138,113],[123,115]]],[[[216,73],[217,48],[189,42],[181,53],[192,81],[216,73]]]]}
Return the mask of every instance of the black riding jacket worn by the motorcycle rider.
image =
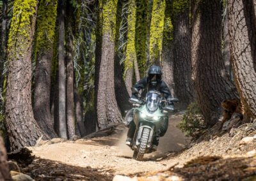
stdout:
{"type": "MultiPolygon", "coordinates": [[[[141,97],[145,98],[148,91],[156,90],[163,94],[164,98],[168,100],[168,98],[172,98],[172,94],[167,87],[166,83],[163,80],[157,80],[156,86],[152,85],[148,80],[148,77],[145,76],[141,80],[135,83],[134,88],[140,91],[142,89],[141,97]]],[[[133,98],[138,98],[138,92],[132,92],[133,98]]]]}

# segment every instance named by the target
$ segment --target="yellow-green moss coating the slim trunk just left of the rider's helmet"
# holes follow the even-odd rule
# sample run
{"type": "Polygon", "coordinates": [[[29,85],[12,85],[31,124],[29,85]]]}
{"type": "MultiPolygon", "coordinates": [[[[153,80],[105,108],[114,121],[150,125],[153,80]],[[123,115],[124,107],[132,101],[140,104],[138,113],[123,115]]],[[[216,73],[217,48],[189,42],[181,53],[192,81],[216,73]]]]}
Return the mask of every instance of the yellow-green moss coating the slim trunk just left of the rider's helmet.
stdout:
{"type": "Polygon", "coordinates": [[[135,0],[129,1],[128,10],[128,33],[127,33],[127,45],[126,45],[126,59],[125,59],[125,71],[133,68],[133,61],[136,59],[135,50],[135,24],[136,24],[136,4],[135,0]]]}

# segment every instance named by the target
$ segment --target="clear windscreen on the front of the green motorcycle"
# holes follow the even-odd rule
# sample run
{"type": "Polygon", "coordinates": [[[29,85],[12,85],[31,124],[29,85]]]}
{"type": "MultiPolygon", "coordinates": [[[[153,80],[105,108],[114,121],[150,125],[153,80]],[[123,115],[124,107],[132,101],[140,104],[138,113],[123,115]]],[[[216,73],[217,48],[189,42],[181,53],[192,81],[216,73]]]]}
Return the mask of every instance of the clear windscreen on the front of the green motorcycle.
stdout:
{"type": "Polygon", "coordinates": [[[159,106],[161,94],[156,91],[149,91],[146,95],[146,106],[149,112],[155,112],[159,106]]]}

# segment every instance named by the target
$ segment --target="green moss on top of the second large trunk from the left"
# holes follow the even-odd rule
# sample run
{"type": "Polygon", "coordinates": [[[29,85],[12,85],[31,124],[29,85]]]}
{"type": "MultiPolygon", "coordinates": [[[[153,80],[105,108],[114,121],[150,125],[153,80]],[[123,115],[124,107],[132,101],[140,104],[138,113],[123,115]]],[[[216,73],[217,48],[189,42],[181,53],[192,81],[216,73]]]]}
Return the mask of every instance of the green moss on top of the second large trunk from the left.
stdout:
{"type": "Polygon", "coordinates": [[[41,0],[36,20],[35,53],[51,50],[54,42],[58,0],[41,0]]]}

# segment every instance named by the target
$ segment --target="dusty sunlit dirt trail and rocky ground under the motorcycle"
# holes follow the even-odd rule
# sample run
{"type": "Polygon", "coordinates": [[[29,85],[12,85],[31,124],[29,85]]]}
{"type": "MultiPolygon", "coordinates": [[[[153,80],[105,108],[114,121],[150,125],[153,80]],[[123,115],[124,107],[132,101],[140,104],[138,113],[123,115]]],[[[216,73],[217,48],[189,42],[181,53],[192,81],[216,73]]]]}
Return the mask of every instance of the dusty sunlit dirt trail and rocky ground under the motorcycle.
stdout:
{"type": "Polygon", "coordinates": [[[127,177],[114,180],[256,180],[255,129],[244,131],[242,126],[231,136],[205,136],[189,144],[176,127],[181,118],[170,117],[157,152],[146,154],[143,161],[132,159],[125,145],[127,128],[120,124],[108,136],[29,147],[35,159],[21,172],[35,180],[113,180],[115,175],[127,177]],[[248,136],[254,139],[242,143],[248,136]]]}

